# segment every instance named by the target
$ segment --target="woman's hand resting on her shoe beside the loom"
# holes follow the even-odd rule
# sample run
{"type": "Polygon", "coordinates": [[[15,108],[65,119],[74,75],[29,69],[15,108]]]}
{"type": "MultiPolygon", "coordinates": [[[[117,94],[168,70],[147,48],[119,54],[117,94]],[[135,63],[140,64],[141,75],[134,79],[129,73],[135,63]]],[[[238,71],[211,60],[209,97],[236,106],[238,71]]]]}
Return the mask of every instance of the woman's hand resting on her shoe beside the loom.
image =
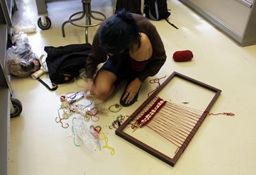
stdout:
{"type": "Polygon", "coordinates": [[[142,84],[142,82],[138,79],[135,78],[127,87],[125,95],[123,97],[123,101],[124,99],[127,97],[125,104],[129,104],[133,98],[135,97],[135,95],[138,93],[139,89],[140,89],[140,85],[142,84]]]}

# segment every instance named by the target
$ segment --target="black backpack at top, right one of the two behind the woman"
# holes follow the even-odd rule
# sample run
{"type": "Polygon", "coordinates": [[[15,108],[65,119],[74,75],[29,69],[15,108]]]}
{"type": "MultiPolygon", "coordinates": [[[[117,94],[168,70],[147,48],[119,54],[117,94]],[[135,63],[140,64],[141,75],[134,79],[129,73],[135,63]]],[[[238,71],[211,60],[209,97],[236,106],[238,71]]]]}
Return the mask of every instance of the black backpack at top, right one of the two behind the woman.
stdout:
{"type": "Polygon", "coordinates": [[[155,21],[166,19],[171,14],[167,10],[166,0],[145,0],[144,13],[147,18],[155,21]]]}

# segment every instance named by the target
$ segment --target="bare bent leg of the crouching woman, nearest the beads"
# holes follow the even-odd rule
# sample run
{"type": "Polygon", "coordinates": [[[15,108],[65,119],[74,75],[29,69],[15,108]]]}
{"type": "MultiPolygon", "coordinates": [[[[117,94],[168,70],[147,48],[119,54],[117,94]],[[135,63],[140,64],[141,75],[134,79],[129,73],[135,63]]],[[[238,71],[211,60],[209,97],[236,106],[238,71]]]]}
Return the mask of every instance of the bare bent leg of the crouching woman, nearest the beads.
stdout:
{"type": "Polygon", "coordinates": [[[114,82],[117,77],[114,73],[107,70],[100,70],[94,80],[94,93],[105,101],[114,91],[114,82]]]}

